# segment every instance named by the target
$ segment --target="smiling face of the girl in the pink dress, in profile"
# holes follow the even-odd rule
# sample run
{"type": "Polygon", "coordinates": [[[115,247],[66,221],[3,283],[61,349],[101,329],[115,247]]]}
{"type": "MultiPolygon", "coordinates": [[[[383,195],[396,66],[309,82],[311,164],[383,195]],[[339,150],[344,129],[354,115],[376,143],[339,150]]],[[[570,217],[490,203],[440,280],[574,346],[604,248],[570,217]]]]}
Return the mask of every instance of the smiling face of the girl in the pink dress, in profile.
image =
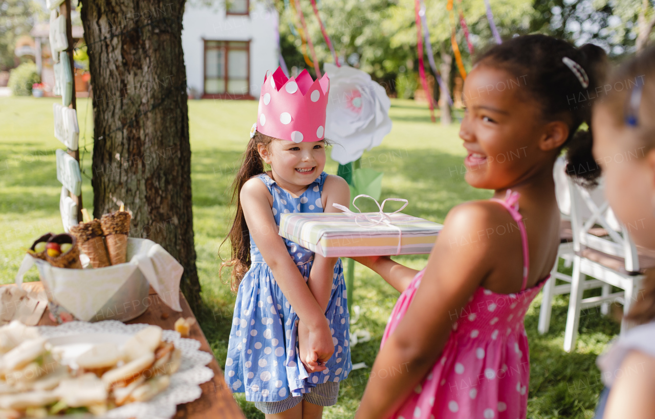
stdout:
{"type": "Polygon", "coordinates": [[[484,62],[466,77],[459,136],[468,152],[464,178],[474,188],[502,190],[521,182],[550,162],[544,152],[554,161],[569,135],[565,122],[544,122],[525,80],[484,62]]]}

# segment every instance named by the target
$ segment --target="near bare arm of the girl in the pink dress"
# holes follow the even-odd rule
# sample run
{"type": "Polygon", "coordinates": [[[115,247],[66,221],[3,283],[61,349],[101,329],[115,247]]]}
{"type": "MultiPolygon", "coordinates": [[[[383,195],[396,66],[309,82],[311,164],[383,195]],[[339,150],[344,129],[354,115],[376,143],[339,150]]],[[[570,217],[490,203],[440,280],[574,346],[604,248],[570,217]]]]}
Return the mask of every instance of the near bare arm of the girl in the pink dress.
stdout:
{"type": "MultiPolygon", "coordinates": [[[[396,411],[440,356],[457,313],[468,303],[493,263],[487,252],[489,243],[466,251],[453,243],[460,243],[458,237],[483,228],[486,222],[485,210],[476,203],[460,205],[449,212],[419,290],[375,360],[357,419],[386,418],[396,411]],[[388,377],[388,371],[399,367],[402,374],[388,377]]],[[[388,264],[383,261],[383,267],[387,266],[385,263],[388,264]]],[[[388,271],[399,269],[395,265],[388,267],[388,271]]],[[[406,271],[399,277],[409,275],[406,271]]]]}

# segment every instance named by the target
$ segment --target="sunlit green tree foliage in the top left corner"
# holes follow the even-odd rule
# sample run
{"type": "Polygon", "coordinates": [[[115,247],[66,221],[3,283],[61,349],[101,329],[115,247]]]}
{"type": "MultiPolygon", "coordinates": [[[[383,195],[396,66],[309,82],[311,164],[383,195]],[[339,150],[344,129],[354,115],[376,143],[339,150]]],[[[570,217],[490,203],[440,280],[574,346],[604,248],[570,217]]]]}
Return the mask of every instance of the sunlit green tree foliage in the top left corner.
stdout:
{"type": "Polygon", "coordinates": [[[14,67],[16,39],[29,34],[44,16],[43,7],[33,0],[0,0],[0,70],[14,67]]]}

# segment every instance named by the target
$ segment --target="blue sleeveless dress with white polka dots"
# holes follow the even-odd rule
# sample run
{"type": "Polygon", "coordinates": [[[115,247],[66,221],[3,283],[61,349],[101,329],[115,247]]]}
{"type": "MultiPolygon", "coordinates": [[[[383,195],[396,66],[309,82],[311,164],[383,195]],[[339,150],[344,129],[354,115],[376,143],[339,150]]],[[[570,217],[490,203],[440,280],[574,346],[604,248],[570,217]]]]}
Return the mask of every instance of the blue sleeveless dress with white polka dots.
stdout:
{"type": "MultiPolygon", "coordinates": [[[[305,193],[295,198],[267,174],[255,176],[266,184],[273,197],[276,224],[286,212],[323,212],[321,192],[327,173],[321,173],[305,193]]],[[[307,281],[314,253],[283,239],[290,256],[307,281]]],[[[348,376],[350,362],[349,319],[346,284],[339,259],[334,267],[332,292],[327,304],[334,354],[325,371],[308,374],[298,356],[299,318],[276,284],[273,273],[250,237],[252,265],[239,284],[232,330],[225,360],[225,380],[235,393],[248,401],[281,401],[302,395],[316,384],[339,382],[348,376]]]]}

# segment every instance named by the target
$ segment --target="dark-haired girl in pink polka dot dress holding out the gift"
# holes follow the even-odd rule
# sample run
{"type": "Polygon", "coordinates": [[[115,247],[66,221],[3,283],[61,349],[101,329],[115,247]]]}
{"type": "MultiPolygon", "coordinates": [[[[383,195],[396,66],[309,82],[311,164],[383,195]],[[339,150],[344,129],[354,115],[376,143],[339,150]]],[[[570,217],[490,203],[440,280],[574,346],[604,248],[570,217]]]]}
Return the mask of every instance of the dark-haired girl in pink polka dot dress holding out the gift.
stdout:
{"type": "Polygon", "coordinates": [[[559,245],[553,164],[562,148],[574,162],[591,144],[590,133],[576,133],[589,107],[567,97],[593,92],[604,57],[595,46],[529,35],[477,60],[460,137],[466,182],[493,198],[451,209],[420,272],[356,258],[402,292],[356,419],[526,417],[523,319],[559,245]]]}

